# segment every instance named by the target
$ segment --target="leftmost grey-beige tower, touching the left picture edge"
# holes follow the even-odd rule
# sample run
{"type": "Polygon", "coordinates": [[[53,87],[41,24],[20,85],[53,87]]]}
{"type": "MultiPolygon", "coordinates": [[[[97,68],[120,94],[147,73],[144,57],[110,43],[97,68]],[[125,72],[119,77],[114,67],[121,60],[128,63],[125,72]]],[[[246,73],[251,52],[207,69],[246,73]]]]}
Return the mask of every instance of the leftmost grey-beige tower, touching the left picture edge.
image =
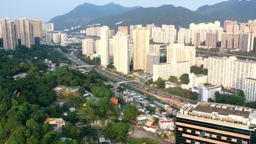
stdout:
{"type": "Polygon", "coordinates": [[[15,50],[17,47],[15,24],[10,18],[1,19],[4,50],[15,50]]]}

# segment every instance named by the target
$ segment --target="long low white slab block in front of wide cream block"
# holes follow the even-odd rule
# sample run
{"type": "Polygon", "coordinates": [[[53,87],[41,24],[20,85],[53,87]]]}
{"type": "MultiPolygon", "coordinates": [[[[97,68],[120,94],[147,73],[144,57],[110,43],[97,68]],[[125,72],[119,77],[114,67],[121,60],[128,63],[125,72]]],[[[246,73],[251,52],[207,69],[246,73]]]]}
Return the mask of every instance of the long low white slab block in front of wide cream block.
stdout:
{"type": "Polygon", "coordinates": [[[183,74],[190,73],[190,63],[185,62],[170,62],[153,65],[153,81],[160,77],[163,80],[168,80],[170,76],[181,77],[183,74]]]}

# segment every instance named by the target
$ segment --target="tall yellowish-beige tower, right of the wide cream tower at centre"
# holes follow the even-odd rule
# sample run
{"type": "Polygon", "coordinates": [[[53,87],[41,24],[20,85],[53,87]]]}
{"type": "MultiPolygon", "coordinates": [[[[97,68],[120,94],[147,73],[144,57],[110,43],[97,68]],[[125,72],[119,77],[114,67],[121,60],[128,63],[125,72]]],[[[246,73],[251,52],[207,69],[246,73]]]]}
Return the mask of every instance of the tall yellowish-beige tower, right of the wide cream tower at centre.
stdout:
{"type": "Polygon", "coordinates": [[[149,30],[147,27],[133,30],[133,69],[146,70],[149,52],[149,30]]]}

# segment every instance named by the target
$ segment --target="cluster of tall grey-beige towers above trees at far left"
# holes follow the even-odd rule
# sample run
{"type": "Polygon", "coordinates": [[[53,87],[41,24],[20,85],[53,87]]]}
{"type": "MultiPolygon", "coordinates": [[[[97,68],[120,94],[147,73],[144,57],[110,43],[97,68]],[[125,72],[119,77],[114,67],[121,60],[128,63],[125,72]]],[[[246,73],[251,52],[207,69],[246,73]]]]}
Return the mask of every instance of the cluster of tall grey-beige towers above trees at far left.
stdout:
{"type": "Polygon", "coordinates": [[[15,50],[18,45],[30,48],[42,41],[42,21],[21,18],[14,22],[10,18],[1,19],[2,38],[5,50],[15,50]]]}

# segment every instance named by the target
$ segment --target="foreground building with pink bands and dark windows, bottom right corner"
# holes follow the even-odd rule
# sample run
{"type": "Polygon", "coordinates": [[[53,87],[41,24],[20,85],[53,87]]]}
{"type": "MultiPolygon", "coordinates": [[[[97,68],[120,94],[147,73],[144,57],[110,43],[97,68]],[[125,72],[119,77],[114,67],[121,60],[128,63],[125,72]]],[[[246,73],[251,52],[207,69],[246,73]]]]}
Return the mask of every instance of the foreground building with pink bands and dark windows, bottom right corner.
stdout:
{"type": "Polygon", "coordinates": [[[185,105],[177,113],[176,143],[254,143],[254,111],[216,103],[185,105]]]}

